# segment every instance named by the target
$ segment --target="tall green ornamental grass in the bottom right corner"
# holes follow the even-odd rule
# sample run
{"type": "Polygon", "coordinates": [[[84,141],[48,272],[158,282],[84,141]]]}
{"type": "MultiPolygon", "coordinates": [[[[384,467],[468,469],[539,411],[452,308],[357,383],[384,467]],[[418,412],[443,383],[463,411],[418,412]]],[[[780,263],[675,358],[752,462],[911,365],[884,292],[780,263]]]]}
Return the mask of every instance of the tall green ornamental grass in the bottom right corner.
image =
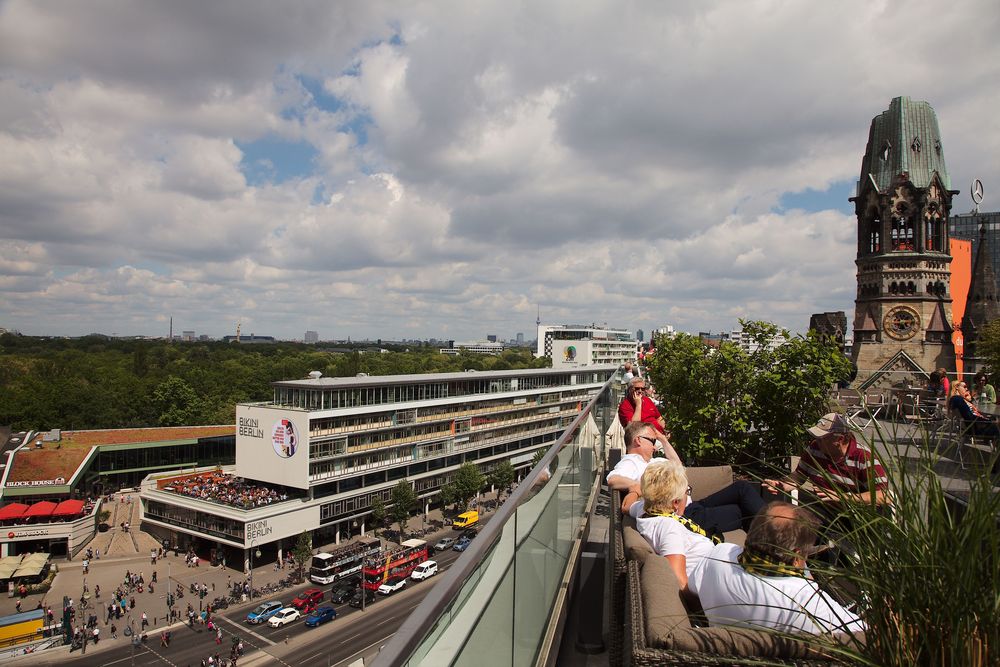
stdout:
{"type": "Polygon", "coordinates": [[[836,652],[863,665],[1000,665],[997,453],[973,473],[963,504],[946,494],[935,469],[948,463],[923,440],[916,458],[880,456],[890,510],[846,498],[835,506],[847,528],[837,540],[844,556],[828,574],[852,591],[868,628],[863,643],[836,652]]]}

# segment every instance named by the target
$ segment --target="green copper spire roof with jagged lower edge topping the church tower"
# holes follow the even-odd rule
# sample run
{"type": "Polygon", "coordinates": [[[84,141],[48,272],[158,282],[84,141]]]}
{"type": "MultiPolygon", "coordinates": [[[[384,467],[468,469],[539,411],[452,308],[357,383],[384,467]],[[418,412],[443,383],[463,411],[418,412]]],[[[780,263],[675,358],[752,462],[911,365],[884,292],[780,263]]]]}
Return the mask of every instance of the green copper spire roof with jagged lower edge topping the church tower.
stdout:
{"type": "Polygon", "coordinates": [[[893,99],[886,111],[872,119],[858,193],[869,183],[869,174],[884,192],[902,173],[909,174],[917,188],[929,186],[936,173],[944,188],[951,189],[937,115],[927,102],[909,97],[893,99]]]}

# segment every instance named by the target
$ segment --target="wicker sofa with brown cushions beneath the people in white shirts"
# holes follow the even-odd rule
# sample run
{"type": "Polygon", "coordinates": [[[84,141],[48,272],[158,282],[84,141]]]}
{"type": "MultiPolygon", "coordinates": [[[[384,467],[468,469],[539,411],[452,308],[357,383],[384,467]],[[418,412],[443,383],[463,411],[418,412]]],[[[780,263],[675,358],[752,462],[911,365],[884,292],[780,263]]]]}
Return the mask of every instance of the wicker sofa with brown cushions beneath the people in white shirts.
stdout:
{"type": "MultiPolygon", "coordinates": [[[[689,468],[695,500],[732,483],[732,469],[689,468]]],[[[611,636],[612,665],[743,665],[762,662],[830,665],[828,654],[794,636],[758,630],[707,627],[700,610],[689,609],[665,558],[656,556],[622,517],[619,494],[612,493],[611,636]],[[620,588],[619,588],[620,587],[620,588]],[[616,604],[621,606],[616,609],[616,604]]],[[[742,544],[743,531],[726,534],[742,544]]]]}

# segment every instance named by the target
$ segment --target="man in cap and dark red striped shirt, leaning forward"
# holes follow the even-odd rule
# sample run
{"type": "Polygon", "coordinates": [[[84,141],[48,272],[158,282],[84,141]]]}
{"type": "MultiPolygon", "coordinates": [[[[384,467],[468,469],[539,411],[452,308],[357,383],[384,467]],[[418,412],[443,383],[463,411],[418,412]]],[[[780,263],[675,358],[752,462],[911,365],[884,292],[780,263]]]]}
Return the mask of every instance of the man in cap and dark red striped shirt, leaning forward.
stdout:
{"type": "Polygon", "coordinates": [[[810,482],[811,493],[823,501],[889,502],[882,464],[868,447],[858,443],[843,415],[823,415],[809,429],[809,435],[814,440],[806,446],[795,471],[784,480],[764,480],[765,488],[789,493],[810,482]]]}

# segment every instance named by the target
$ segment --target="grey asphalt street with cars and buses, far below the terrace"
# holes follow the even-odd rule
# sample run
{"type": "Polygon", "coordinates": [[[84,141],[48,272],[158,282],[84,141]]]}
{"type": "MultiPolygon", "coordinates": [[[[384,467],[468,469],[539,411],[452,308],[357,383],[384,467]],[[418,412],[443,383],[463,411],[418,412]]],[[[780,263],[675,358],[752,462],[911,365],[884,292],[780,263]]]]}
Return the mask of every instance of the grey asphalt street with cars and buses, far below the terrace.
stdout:
{"type": "MultiPolygon", "coordinates": [[[[456,532],[457,535],[457,532],[456,532]]],[[[460,554],[448,550],[437,553],[432,558],[441,570],[447,569],[460,554]]],[[[438,577],[440,574],[438,575],[438,577]]],[[[337,618],[318,628],[309,628],[302,620],[294,621],[281,628],[267,625],[247,625],[247,613],[260,600],[238,607],[230,607],[214,615],[222,628],[221,645],[216,645],[215,635],[198,627],[175,627],[169,647],[160,646],[159,633],[151,633],[146,644],[133,647],[119,637],[112,649],[95,652],[88,645],[87,654],[79,650],[66,654],[64,651],[33,656],[32,665],[72,665],[73,667],[198,667],[201,660],[216,652],[223,658],[229,657],[232,638],[243,640],[244,655],[239,660],[244,665],[283,665],[285,667],[335,666],[347,664],[362,654],[371,654],[393,635],[413,609],[423,600],[434,586],[438,577],[426,581],[407,580],[406,588],[388,597],[378,599],[367,606],[365,611],[354,609],[347,604],[333,605],[337,618]]],[[[265,599],[280,599],[290,602],[295,595],[315,584],[303,584],[283,591],[282,594],[265,599]]],[[[318,586],[329,593],[330,585],[318,586]]],[[[325,604],[329,604],[328,602],[325,604]]],[[[102,633],[107,630],[102,626],[102,633]]],[[[99,648],[106,644],[101,642],[99,648]]],[[[25,663],[27,664],[27,663],[25,663]]]]}

